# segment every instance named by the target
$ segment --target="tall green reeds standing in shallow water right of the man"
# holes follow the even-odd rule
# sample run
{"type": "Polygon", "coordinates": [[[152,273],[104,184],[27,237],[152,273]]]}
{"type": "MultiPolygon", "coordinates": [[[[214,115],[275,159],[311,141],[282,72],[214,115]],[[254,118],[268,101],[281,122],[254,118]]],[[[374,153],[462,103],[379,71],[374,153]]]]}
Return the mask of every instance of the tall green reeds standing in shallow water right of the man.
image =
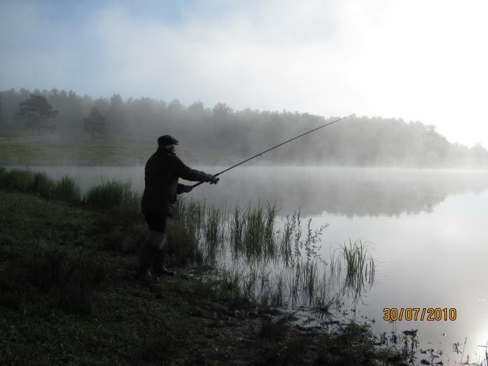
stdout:
{"type": "Polygon", "coordinates": [[[174,217],[174,235],[184,236],[183,247],[190,252],[186,257],[199,253],[217,268],[222,289],[233,291],[236,303],[307,305],[330,314],[340,309],[343,296],[357,302],[374,280],[374,261],[360,241],[324,260],[320,241],[327,225],[312,229],[309,219],[303,227],[300,210],[277,227],[275,204],[250,203],[244,210],[236,205],[227,211],[181,199],[174,217]]]}

